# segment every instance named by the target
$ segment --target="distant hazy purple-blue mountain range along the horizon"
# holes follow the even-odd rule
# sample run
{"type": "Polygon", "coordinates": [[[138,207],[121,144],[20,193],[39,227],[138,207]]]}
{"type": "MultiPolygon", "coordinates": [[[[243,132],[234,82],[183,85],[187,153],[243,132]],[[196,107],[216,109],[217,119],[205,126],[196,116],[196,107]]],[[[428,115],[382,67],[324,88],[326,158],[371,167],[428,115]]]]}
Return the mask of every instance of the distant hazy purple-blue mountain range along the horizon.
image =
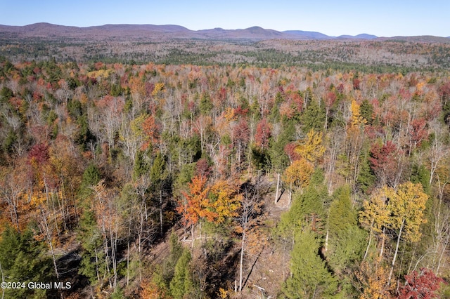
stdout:
{"type": "MultiPolygon", "coordinates": [[[[0,25],[0,37],[74,37],[91,39],[217,39],[217,40],[249,40],[267,39],[290,40],[333,40],[333,39],[411,39],[423,36],[378,37],[372,34],[328,36],[321,32],[302,30],[276,31],[262,27],[246,29],[203,29],[191,30],[179,25],[102,25],[93,27],[73,27],[53,25],[45,22],[25,26],[0,25]]],[[[426,36],[426,39],[449,42],[446,37],[426,36]],[[447,40],[447,41],[446,41],[447,40]]]]}

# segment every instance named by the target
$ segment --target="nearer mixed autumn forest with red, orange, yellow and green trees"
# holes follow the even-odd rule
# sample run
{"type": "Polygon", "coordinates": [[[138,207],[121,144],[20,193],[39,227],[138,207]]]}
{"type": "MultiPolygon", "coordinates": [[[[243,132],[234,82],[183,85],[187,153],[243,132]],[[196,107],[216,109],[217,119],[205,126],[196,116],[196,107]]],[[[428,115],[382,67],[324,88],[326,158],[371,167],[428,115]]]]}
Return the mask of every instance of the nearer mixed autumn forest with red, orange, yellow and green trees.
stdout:
{"type": "Polygon", "coordinates": [[[449,298],[448,70],[332,66],[0,58],[4,298],[449,298]]]}

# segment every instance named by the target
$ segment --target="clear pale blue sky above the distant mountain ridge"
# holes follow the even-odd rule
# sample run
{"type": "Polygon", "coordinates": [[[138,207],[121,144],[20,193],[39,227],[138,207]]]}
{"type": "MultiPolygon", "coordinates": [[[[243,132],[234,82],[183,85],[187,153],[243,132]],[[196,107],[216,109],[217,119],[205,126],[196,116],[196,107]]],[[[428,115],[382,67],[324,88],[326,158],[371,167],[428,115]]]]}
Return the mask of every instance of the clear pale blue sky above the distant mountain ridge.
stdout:
{"type": "Polygon", "coordinates": [[[318,31],[328,35],[450,36],[450,0],[0,0],[1,25],[50,22],[181,25],[188,29],[318,31]]]}

